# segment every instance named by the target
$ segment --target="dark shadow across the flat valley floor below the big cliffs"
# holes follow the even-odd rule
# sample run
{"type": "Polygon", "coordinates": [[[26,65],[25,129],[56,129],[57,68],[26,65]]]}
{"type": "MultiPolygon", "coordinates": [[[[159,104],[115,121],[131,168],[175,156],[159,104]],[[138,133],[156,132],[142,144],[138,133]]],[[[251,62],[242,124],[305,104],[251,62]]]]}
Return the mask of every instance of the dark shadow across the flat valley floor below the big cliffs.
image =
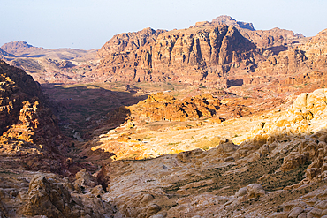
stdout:
{"type": "Polygon", "coordinates": [[[118,127],[130,114],[125,106],[145,100],[148,95],[111,91],[93,84],[70,87],[61,84],[42,86],[52,101],[52,109],[59,118],[59,126],[67,136],[82,141],[95,128],[106,124],[106,131],[118,127]],[[83,136],[84,135],[84,136],[83,136]]]}

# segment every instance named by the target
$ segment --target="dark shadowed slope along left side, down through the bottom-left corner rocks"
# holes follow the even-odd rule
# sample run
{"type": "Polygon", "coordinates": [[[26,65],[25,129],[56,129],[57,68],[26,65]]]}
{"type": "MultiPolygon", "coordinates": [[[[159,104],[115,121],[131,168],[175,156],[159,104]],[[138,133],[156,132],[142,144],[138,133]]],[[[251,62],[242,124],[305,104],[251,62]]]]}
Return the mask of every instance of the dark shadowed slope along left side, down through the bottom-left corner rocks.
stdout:
{"type": "Polygon", "coordinates": [[[3,61],[0,102],[0,217],[113,214],[100,197],[104,192],[96,177],[85,169],[75,175],[83,166],[96,166],[68,154],[74,142],[59,131],[41,86],[3,61]]]}

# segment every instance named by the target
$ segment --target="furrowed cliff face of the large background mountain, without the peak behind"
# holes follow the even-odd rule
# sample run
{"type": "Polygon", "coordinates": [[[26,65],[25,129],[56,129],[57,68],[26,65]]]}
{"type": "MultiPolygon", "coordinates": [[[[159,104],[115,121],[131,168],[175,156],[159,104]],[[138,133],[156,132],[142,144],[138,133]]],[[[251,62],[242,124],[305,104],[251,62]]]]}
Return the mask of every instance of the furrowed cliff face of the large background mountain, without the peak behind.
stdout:
{"type": "Polygon", "coordinates": [[[98,70],[90,76],[108,74],[110,81],[199,83],[223,77],[231,67],[224,65],[240,64],[253,57],[254,51],[255,45],[233,26],[195,26],[170,32],[147,28],[108,41],[99,50],[103,60],[98,70]]]}

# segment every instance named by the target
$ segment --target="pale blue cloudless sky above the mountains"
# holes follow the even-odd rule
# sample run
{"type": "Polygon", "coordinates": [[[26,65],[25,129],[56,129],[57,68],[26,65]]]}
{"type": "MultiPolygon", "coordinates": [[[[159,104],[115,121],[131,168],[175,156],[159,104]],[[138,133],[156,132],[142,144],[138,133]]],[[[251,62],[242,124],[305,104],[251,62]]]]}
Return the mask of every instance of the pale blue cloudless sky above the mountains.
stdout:
{"type": "Polygon", "coordinates": [[[0,46],[100,49],[115,34],[172,30],[229,15],[305,36],[327,28],[326,0],[0,0],[0,46]]]}

